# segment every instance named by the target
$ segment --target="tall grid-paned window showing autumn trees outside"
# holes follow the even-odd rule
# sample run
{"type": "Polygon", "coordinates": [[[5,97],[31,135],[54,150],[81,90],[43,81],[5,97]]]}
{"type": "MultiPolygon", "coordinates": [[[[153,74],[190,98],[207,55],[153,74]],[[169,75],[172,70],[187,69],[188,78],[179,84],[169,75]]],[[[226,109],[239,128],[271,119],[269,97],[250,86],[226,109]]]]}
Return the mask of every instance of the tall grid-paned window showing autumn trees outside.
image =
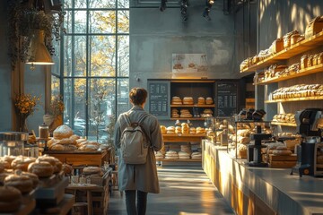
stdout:
{"type": "Polygon", "coordinates": [[[128,108],[129,0],[65,0],[64,10],[64,123],[105,142],[106,126],[128,108]]]}

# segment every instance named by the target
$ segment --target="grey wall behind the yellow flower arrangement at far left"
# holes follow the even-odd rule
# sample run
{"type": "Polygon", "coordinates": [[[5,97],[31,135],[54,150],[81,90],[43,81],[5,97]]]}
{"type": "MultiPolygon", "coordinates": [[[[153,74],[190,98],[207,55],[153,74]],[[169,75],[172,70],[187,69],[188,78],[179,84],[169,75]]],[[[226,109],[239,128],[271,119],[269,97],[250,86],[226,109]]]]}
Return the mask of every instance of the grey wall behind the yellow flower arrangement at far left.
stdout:
{"type": "Polygon", "coordinates": [[[11,68],[11,59],[8,56],[8,11],[7,1],[0,3],[0,132],[16,130],[13,107],[13,97],[18,94],[21,87],[22,92],[31,93],[31,95],[40,96],[41,101],[38,110],[27,120],[28,129],[38,133],[38,126],[42,124],[44,115],[45,99],[45,77],[48,68],[42,65],[36,65],[36,70],[31,71],[27,64],[17,64],[15,71],[11,68]],[[22,82],[19,85],[18,73],[21,73],[22,82]]]}

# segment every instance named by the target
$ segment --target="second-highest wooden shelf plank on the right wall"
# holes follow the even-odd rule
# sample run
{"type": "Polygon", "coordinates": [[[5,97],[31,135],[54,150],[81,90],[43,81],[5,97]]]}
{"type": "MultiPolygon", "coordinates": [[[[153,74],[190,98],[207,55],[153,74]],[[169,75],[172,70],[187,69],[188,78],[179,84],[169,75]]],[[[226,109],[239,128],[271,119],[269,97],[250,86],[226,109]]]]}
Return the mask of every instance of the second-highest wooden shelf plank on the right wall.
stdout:
{"type": "Polygon", "coordinates": [[[293,78],[296,78],[296,77],[305,76],[305,75],[308,75],[308,74],[311,74],[311,73],[321,73],[321,72],[323,72],[323,64],[318,64],[318,65],[310,66],[310,67],[305,68],[305,69],[301,69],[299,71],[299,73],[294,73],[294,74],[283,76],[283,77],[269,78],[269,79],[266,79],[265,81],[257,82],[256,84],[265,85],[267,83],[281,82],[281,81],[293,79],[293,78]]]}

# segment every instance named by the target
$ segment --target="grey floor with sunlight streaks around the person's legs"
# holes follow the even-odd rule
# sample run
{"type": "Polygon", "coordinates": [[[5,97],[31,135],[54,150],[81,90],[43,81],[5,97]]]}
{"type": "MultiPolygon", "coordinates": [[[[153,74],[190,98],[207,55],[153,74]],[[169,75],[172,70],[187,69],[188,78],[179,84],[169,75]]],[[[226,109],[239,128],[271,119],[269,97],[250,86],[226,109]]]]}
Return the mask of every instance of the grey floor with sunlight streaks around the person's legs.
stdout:
{"type": "MultiPolygon", "coordinates": [[[[234,214],[200,167],[159,168],[161,193],[148,194],[147,215],[234,214]]],[[[125,196],[114,192],[109,215],[126,215],[125,196]]]]}

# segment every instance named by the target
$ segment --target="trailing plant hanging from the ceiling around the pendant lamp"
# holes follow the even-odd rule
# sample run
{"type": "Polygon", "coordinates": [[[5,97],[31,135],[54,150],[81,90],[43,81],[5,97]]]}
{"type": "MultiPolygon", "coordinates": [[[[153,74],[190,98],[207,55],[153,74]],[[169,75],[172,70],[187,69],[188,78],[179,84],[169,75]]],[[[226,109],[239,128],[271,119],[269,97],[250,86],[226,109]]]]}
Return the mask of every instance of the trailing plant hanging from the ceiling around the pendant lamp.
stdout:
{"type": "Polygon", "coordinates": [[[53,13],[39,8],[39,5],[22,2],[20,0],[8,0],[9,8],[9,56],[11,58],[12,69],[17,62],[26,62],[29,57],[31,38],[35,30],[44,30],[45,45],[50,55],[55,55],[55,48],[52,42],[60,40],[63,27],[64,15],[61,6],[53,13]]]}

